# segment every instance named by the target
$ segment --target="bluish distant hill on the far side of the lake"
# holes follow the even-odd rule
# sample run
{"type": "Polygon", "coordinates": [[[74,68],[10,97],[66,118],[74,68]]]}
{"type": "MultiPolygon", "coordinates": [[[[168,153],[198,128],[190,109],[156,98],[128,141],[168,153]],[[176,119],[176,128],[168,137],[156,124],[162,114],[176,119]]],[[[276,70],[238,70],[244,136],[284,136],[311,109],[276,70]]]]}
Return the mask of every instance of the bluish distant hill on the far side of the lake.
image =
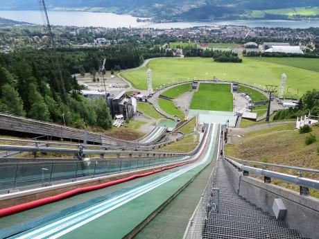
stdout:
{"type": "MultiPolygon", "coordinates": [[[[157,20],[207,19],[319,19],[318,0],[48,0],[46,6],[54,10],[85,10],[130,13],[137,17],[157,20]],[[288,9],[280,11],[279,9],[288,9]],[[302,10],[296,10],[302,8],[302,10]],[[269,10],[264,12],[264,10],[269,10]],[[279,10],[279,11],[278,11],[279,10]],[[308,11],[309,10],[309,11],[308,11]],[[257,12],[256,12],[257,11],[257,12]]],[[[0,10],[37,10],[34,0],[10,0],[1,3],[0,10]]]]}

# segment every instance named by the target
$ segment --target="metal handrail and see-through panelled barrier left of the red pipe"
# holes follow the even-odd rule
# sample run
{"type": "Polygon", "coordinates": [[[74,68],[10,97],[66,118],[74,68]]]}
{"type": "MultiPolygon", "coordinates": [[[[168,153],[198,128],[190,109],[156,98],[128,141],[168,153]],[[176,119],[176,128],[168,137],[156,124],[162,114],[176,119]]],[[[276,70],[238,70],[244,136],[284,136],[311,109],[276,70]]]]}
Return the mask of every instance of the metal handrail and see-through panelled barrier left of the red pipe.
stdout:
{"type": "MultiPolygon", "coordinates": [[[[198,144],[199,148],[194,150],[194,156],[200,155],[198,150],[205,147],[204,142],[208,139],[208,133],[210,131],[205,131],[205,137],[202,138],[198,144]],[[200,145],[200,146],[199,146],[200,145]]],[[[5,145],[6,146],[6,145],[5,145]]],[[[0,146],[4,147],[4,146],[0,146]]],[[[6,150],[8,150],[10,145],[7,145],[6,150]]],[[[12,148],[13,149],[13,148],[12,148]]],[[[16,147],[17,149],[17,147],[16,147]]],[[[13,150],[16,150],[13,149],[13,150]]],[[[30,150],[28,146],[20,146],[19,150],[25,149],[30,150]]],[[[47,150],[47,148],[36,148],[33,150],[47,150]]],[[[59,148],[50,148],[50,150],[61,150],[59,148]]],[[[121,172],[130,172],[141,170],[144,168],[150,169],[160,166],[174,165],[180,162],[193,162],[195,157],[188,157],[188,154],[178,153],[171,157],[172,154],[163,152],[141,152],[141,151],[123,151],[123,150],[83,150],[83,149],[62,149],[67,152],[80,152],[82,153],[105,153],[105,154],[146,154],[146,157],[140,157],[139,155],[133,156],[132,154],[126,155],[124,157],[109,157],[107,159],[97,159],[85,161],[40,161],[40,162],[15,162],[15,163],[1,163],[2,172],[11,172],[12,177],[3,174],[0,177],[0,194],[11,193],[16,190],[24,190],[28,188],[37,188],[39,186],[50,186],[53,184],[60,184],[67,181],[76,181],[80,178],[94,178],[100,175],[115,175],[121,172]],[[151,153],[157,154],[159,157],[153,157],[151,153]],[[42,166],[43,164],[43,166],[42,166]],[[62,164],[62,165],[61,165],[62,164]],[[66,167],[64,167],[64,165],[66,167]],[[27,170],[23,170],[24,166],[28,166],[27,170]],[[31,166],[31,167],[30,167],[31,166]],[[33,167],[34,166],[34,167],[33,167]],[[10,168],[11,167],[11,168],[10,168]],[[28,173],[26,173],[26,171],[28,173]],[[21,174],[22,172],[22,174],[21,174]]],[[[111,155],[110,155],[111,156],[111,155]]],[[[96,158],[94,158],[96,159],[96,158]]],[[[65,160],[65,159],[64,159],[65,160]]],[[[1,167],[0,167],[1,169],[1,167]]]]}

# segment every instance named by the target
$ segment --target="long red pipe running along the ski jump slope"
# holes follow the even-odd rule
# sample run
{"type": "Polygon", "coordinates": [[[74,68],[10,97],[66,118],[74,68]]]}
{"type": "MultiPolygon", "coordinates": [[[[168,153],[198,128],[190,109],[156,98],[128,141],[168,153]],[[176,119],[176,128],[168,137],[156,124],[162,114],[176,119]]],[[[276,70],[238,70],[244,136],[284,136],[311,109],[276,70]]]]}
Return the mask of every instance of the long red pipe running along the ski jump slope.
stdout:
{"type": "Polygon", "coordinates": [[[98,185],[94,185],[94,186],[86,186],[86,187],[83,187],[83,188],[76,188],[76,189],[73,189],[71,191],[67,191],[65,193],[60,193],[60,194],[55,195],[55,196],[45,197],[45,198],[42,198],[40,200],[35,200],[35,201],[31,201],[31,202],[26,202],[24,204],[10,206],[10,207],[8,207],[6,209],[0,209],[0,218],[1,217],[5,217],[7,215],[14,214],[14,213],[19,213],[21,211],[26,211],[28,209],[33,209],[33,208],[35,208],[37,206],[42,206],[44,204],[49,204],[51,202],[56,202],[56,201],[59,201],[59,200],[63,200],[65,198],[67,198],[67,197],[71,197],[71,196],[77,195],[79,193],[87,193],[89,191],[94,191],[94,190],[98,190],[98,189],[101,189],[101,188],[106,188],[108,186],[121,184],[123,182],[128,182],[128,181],[130,181],[132,179],[137,179],[139,177],[146,177],[148,175],[153,175],[153,174],[155,174],[157,172],[162,172],[164,170],[169,170],[171,168],[177,168],[177,167],[189,164],[189,163],[193,163],[193,162],[197,161],[200,158],[200,156],[204,152],[204,149],[206,148],[206,145],[207,145],[207,139],[205,141],[205,147],[202,149],[202,152],[200,152],[200,155],[198,157],[196,157],[196,159],[193,159],[191,161],[188,161],[188,162],[185,162],[185,163],[180,163],[180,164],[177,164],[177,165],[174,165],[174,166],[164,167],[164,168],[161,168],[161,169],[158,169],[158,170],[154,170],[152,172],[146,172],[146,173],[143,173],[143,174],[132,175],[130,177],[126,177],[124,179],[118,179],[118,180],[115,180],[115,181],[112,181],[112,182],[107,182],[105,184],[98,184],[98,185]]]}

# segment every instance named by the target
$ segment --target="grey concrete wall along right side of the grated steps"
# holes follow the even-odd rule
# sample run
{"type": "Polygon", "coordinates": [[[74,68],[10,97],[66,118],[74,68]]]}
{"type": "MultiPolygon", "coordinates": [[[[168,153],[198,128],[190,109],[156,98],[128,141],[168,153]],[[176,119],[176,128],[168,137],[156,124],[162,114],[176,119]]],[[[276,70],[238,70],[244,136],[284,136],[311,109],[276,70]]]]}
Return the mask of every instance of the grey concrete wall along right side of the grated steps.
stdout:
{"type": "Polygon", "coordinates": [[[252,177],[245,177],[227,161],[223,163],[239,195],[272,215],[274,215],[272,208],[275,198],[281,198],[287,209],[284,222],[287,222],[291,229],[299,230],[304,237],[319,238],[318,199],[300,196],[295,191],[274,184],[265,184],[252,177]]]}

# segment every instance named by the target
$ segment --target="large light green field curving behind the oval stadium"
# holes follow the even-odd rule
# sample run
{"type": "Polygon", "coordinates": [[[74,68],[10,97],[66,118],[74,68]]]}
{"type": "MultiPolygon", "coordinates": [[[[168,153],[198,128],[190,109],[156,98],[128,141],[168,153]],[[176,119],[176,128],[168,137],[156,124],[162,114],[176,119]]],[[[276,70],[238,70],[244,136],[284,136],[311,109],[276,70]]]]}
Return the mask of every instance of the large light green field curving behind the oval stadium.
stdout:
{"type": "MultiPolygon", "coordinates": [[[[194,78],[208,80],[216,76],[221,80],[239,80],[240,83],[264,89],[265,85],[279,86],[282,73],[286,73],[288,77],[286,86],[291,87],[290,89],[299,89],[299,96],[319,85],[319,72],[289,67],[284,64],[261,62],[260,58],[244,57],[241,64],[214,62],[211,58],[200,57],[155,59],[151,60],[147,67],[123,72],[122,76],[132,82],[132,85],[137,89],[147,89],[146,70],[148,68],[152,69],[153,72],[154,88],[163,86],[169,82],[184,82],[193,80],[194,78]]],[[[314,66],[313,60],[315,60],[319,66],[319,59],[291,59],[292,61],[300,60],[305,66],[307,62],[314,66]]],[[[314,68],[318,69],[316,66],[314,68]]]]}

